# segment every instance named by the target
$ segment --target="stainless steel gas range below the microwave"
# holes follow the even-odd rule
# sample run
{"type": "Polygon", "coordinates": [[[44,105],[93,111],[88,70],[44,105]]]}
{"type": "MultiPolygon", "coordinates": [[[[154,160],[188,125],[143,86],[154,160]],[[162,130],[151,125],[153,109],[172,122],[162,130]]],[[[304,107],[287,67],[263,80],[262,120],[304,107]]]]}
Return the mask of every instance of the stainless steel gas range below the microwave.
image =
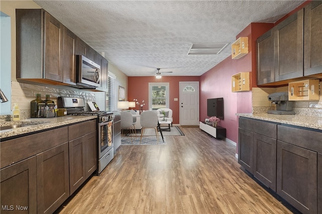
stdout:
{"type": "Polygon", "coordinates": [[[113,150],[113,112],[107,111],[85,111],[84,98],[58,97],[58,108],[66,108],[67,115],[97,115],[97,150],[98,169],[97,175],[114,158],[113,150]]]}

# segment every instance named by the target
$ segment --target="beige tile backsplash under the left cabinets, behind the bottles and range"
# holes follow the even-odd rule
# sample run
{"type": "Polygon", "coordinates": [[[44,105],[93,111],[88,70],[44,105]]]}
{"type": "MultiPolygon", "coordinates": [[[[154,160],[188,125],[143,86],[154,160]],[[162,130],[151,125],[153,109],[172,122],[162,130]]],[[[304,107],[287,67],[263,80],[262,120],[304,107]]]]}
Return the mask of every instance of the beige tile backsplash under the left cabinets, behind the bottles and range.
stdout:
{"type": "Polygon", "coordinates": [[[14,103],[18,103],[22,119],[30,118],[30,102],[36,99],[36,94],[41,94],[42,100],[45,100],[47,94],[50,95],[50,100],[54,101],[55,104],[57,104],[57,97],[60,96],[84,98],[85,103],[95,101],[95,93],[77,89],[63,89],[54,86],[11,82],[11,90],[11,109],[13,109],[14,103]]]}

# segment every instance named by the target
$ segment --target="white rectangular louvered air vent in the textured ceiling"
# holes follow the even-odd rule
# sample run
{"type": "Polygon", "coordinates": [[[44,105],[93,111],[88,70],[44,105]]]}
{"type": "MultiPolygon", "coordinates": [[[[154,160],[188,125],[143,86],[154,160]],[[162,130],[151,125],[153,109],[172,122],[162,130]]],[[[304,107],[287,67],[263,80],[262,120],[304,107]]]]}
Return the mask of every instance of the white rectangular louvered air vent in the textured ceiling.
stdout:
{"type": "Polygon", "coordinates": [[[190,46],[188,55],[190,54],[219,54],[229,43],[217,43],[217,44],[203,44],[196,43],[190,46]]]}

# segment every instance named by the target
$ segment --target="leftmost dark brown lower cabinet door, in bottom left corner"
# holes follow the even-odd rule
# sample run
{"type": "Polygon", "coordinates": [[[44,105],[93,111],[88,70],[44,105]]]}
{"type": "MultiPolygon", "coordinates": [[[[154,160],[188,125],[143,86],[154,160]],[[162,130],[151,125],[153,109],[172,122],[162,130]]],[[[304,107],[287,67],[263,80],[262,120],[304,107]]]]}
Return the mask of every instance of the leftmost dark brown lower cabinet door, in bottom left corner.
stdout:
{"type": "Polygon", "coordinates": [[[1,213],[37,213],[36,156],[0,170],[1,213]]]}

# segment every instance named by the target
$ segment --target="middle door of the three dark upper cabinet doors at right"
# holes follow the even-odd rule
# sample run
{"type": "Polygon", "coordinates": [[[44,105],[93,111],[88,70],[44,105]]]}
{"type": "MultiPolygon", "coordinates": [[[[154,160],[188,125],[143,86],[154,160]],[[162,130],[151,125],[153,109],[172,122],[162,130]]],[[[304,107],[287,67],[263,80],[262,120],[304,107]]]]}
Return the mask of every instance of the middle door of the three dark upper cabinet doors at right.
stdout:
{"type": "Polygon", "coordinates": [[[303,77],[303,16],[301,9],[276,26],[276,82],[303,77]]]}

